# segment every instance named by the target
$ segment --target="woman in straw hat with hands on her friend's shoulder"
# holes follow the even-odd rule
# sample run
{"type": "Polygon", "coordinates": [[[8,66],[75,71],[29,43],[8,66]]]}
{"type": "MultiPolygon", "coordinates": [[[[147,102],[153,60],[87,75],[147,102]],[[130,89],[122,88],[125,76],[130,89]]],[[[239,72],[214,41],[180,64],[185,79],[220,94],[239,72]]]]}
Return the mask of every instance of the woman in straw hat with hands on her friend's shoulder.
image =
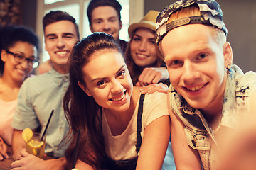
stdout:
{"type": "Polygon", "coordinates": [[[130,41],[125,54],[134,86],[146,86],[144,92],[149,93],[166,92],[168,86],[164,84],[169,84],[168,72],[155,40],[158,14],[151,10],[141,21],[129,26],[130,41]]]}

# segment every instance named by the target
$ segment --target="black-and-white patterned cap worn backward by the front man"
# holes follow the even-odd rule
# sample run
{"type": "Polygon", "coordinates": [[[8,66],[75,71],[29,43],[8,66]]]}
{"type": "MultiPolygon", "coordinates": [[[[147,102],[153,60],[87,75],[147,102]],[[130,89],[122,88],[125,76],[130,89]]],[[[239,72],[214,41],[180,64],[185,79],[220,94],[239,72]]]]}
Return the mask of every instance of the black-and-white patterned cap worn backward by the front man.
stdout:
{"type": "Polygon", "coordinates": [[[164,38],[169,30],[172,30],[178,26],[183,26],[192,23],[202,23],[209,26],[215,26],[223,30],[225,35],[228,34],[228,30],[223,22],[223,12],[220,9],[220,5],[214,0],[178,0],[169,6],[166,6],[159,16],[156,18],[156,43],[164,38]],[[201,16],[192,16],[180,18],[176,21],[169,22],[171,13],[186,8],[193,4],[197,4],[201,13],[201,16]]]}

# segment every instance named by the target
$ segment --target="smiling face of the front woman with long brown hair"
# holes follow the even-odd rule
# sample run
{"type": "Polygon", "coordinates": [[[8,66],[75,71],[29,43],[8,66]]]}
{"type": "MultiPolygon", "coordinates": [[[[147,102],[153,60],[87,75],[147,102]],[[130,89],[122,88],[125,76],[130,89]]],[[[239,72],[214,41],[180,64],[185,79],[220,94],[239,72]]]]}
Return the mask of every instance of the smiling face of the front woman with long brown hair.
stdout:
{"type": "Polygon", "coordinates": [[[124,58],[117,50],[100,50],[82,68],[83,90],[97,104],[113,111],[127,111],[132,95],[132,79],[124,58]]]}

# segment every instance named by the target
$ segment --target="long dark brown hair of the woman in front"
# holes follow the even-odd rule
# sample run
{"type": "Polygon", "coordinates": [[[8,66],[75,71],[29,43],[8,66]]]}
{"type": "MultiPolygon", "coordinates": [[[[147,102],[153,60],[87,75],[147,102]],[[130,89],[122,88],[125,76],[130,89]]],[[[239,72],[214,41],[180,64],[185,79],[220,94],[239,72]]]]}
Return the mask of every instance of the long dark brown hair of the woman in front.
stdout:
{"type": "MultiPolygon", "coordinates": [[[[101,128],[101,107],[92,96],[87,96],[78,86],[78,81],[86,86],[83,79],[82,68],[90,61],[95,52],[114,50],[122,53],[117,42],[111,35],[105,33],[92,33],[78,42],[70,54],[68,90],[63,99],[65,116],[70,125],[68,137],[70,146],[65,152],[67,168],[71,169],[78,132],[78,160],[86,162],[94,169],[100,169],[100,164],[106,157],[105,142],[101,128]]],[[[90,73],[86,73],[90,74],[90,73]]]]}

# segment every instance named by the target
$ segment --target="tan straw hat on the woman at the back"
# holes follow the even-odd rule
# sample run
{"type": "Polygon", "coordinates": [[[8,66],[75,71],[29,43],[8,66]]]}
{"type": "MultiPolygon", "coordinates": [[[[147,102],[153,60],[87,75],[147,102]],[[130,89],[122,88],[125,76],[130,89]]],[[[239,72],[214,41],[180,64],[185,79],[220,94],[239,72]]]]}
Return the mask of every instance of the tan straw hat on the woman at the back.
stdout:
{"type": "Polygon", "coordinates": [[[129,38],[132,37],[134,30],[137,28],[149,28],[156,31],[156,17],[159,15],[159,11],[149,11],[146,16],[142,18],[139,23],[132,23],[128,28],[129,38]]]}

